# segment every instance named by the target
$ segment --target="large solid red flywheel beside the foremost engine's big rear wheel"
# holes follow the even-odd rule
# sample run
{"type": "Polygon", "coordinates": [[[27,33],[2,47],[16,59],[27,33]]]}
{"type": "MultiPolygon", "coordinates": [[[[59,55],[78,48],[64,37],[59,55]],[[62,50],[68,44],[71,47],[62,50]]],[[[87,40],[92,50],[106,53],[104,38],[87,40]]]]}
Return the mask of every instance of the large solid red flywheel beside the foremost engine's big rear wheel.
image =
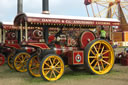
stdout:
{"type": "Polygon", "coordinates": [[[85,31],[81,34],[80,36],[80,45],[81,45],[81,48],[85,48],[87,46],[87,44],[96,39],[96,36],[93,32],[91,31],[85,31]]]}

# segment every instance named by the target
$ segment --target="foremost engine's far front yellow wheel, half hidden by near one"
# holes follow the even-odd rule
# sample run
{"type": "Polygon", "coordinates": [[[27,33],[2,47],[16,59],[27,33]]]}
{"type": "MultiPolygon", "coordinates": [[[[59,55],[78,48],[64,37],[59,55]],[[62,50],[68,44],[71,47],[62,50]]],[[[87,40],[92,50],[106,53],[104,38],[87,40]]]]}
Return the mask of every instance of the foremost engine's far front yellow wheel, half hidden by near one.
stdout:
{"type": "Polygon", "coordinates": [[[27,62],[27,71],[32,77],[41,77],[40,60],[38,56],[32,56],[27,62]]]}

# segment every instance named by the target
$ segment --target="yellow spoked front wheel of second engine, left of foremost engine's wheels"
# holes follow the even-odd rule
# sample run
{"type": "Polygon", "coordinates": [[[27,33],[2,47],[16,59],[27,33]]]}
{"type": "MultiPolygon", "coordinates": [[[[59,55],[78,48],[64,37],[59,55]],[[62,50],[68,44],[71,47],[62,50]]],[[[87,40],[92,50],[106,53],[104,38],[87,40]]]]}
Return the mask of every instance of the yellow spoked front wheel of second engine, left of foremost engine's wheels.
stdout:
{"type": "Polygon", "coordinates": [[[30,54],[26,52],[20,52],[14,57],[14,69],[18,72],[27,71],[27,61],[30,58],[30,54]]]}

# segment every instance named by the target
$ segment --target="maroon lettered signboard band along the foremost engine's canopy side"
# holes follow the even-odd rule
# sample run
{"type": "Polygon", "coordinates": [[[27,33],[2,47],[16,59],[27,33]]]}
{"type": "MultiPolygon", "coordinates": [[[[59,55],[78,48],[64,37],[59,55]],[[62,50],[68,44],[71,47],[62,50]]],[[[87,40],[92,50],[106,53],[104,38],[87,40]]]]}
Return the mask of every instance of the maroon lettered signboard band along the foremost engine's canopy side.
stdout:
{"type": "Polygon", "coordinates": [[[92,20],[71,20],[71,19],[55,19],[55,18],[33,18],[29,17],[28,22],[35,23],[52,23],[52,24],[74,24],[74,25],[119,25],[115,22],[92,21],[92,20]],[[114,23],[114,24],[113,24],[114,23]]]}

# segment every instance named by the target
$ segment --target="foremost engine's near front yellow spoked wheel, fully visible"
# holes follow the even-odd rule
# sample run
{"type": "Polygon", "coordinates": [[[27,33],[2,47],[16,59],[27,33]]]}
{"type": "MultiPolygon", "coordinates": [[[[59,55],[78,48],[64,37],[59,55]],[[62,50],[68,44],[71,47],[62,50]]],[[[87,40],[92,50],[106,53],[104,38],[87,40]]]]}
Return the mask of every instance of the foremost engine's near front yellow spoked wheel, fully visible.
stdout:
{"type": "Polygon", "coordinates": [[[49,54],[43,58],[40,64],[41,77],[47,81],[56,81],[64,73],[64,62],[61,57],[49,54]]]}

